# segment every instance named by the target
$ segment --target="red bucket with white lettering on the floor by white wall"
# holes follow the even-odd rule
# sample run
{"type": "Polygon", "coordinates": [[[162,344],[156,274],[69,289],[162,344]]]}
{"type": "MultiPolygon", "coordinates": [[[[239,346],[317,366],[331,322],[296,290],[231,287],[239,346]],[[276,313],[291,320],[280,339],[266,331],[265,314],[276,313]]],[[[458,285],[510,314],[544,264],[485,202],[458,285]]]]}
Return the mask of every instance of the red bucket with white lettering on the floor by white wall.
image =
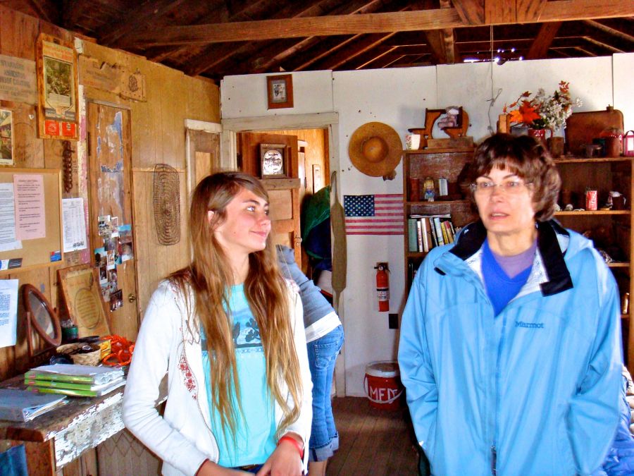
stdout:
{"type": "Polygon", "coordinates": [[[397,410],[404,391],[398,362],[371,362],[366,366],[363,388],[370,406],[379,410],[397,410]]]}

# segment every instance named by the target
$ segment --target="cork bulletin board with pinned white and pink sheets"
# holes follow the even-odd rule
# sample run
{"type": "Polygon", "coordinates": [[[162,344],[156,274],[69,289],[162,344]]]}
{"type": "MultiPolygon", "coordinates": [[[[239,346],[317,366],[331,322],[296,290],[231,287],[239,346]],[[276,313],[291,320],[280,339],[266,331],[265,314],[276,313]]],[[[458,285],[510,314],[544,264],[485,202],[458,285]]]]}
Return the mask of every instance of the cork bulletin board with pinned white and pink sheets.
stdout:
{"type": "Polygon", "coordinates": [[[63,262],[61,196],[58,169],[0,169],[0,276],[63,262]]]}

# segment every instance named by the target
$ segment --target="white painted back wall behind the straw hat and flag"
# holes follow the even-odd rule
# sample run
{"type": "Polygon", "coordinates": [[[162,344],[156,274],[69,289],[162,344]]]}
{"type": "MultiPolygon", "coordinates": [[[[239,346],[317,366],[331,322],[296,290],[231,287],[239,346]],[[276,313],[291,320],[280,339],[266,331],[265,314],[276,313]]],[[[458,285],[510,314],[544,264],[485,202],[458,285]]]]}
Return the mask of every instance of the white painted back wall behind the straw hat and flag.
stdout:
{"type": "MultiPolygon", "coordinates": [[[[340,184],[342,194],[402,193],[402,166],[394,181],[357,171],[349,160],[349,137],[363,123],[380,121],[401,137],[408,128],[423,126],[425,109],[463,106],[470,116],[469,135],[476,141],[495,129],[504,104],[521,92],[547,92],[559,80],[571,83],[571,94],[583,100],[579,111],[603,110],[608,104],[623,111],[627,129],[634,129],[631,87],[634,54],[612,58],[510,61],[365,71],[293,73],[293,109],[266,109],[266,75],[227,76],[220,85],[222,117],[339,114],[340,184]],[[499,92],[499,95],[498,95],[499,92]],[[496,97],[489,109],[487,99],[496,97]]],[[[335,167],[333,166],[333,169],[335,167]]],[[[387,327],[387,313],[378,312],[375,271],[378,261],[390,263],[390,312],[402,312],[404,296],[403,241],[400,236],[349,236],[347,289],[342,296],[346,332],[346,393],[363,396],[368,362],[396,358],[399,331],[387,327]]]]}

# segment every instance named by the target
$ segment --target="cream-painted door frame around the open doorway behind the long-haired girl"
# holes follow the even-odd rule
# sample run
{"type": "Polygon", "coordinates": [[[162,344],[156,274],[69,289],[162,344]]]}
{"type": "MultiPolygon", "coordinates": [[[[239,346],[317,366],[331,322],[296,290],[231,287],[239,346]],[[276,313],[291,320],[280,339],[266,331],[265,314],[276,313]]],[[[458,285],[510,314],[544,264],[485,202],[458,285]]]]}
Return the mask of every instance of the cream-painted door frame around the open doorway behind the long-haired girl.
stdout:
{"type": "MultiPolygon", "coordinates": [[[[244,118],[228,118],[221,121],[223,131],[220,139],[220,167],[222,169],[237,170],[236,134],[253,130],[288,130],[288,129],[328,129],[328,163],[330,173],[340,170],[339,157],[339,113],[325,112],[316,114],[285,114],[281,116],[256,116],[244,118]]],[[[341,187],[337,188],[339,201],[343,203],[341,187]]],[[[332,236],[331,236],[332,238],[332,236]]],[[[345,293],[345,291],[342,291],[345,293]]],[[[343,303],[340,296],[339,303],[343,303]]],[[[337,302],[337,301],[335,301],[337,302]]],[[[343,305],[337,309],[337,314],[345,329],[343,305]]],[[[335,364],[335,389],[337,396],[346,396],[346,356],[345,345],[341,349],[342,358],[335,364]]]]}

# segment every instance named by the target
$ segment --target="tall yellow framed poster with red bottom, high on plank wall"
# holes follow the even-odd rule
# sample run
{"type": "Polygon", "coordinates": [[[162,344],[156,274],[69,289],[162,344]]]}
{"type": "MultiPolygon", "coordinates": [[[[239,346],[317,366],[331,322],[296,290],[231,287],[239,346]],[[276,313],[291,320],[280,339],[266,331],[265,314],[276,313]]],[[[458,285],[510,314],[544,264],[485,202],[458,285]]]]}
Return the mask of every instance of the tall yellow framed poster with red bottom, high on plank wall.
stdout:
{"type": "Polygon", "coordinates": [[[42,139],[77,140],[77,51],[41,33],[37,39],[37,122],[42,139]]]}

